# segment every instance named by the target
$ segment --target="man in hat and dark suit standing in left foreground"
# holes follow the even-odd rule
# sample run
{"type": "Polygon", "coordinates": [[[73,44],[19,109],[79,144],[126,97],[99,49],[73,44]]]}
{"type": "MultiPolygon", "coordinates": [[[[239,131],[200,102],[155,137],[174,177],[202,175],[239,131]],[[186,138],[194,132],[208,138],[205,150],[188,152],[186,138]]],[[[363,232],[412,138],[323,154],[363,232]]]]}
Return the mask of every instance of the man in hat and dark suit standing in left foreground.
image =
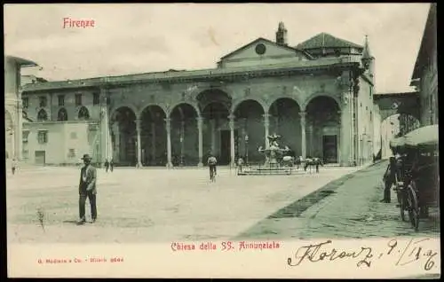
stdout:
{"type": "Polygon", "coordinates": [[[97,219],[97,207],[96,207],[96,181],[97,181],[97,171],[91,165],[91,157],[89,154],[83,155],[84,166],[80,170],[80,184],[79,184],[79,215],[80,220],[78,224],[83,224],[86,222],[85,218],[85,203],[86,198],[90,201],[91,206],[91,219],[92,223],[96,222],[97,219]]]}

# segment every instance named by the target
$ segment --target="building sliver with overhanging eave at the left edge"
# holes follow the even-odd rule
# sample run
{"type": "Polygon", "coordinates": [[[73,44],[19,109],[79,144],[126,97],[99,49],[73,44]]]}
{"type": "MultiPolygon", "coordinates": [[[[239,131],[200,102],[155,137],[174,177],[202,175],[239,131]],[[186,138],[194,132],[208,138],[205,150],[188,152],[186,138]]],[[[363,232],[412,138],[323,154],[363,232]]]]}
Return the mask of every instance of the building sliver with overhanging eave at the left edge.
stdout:
{"type": "Polygon", "coordinates": [[[28,59],[4,56],[4,126],[5,126],[5,160],[21,160],[23,123],[20,69],[36,67],[28,59]]]}

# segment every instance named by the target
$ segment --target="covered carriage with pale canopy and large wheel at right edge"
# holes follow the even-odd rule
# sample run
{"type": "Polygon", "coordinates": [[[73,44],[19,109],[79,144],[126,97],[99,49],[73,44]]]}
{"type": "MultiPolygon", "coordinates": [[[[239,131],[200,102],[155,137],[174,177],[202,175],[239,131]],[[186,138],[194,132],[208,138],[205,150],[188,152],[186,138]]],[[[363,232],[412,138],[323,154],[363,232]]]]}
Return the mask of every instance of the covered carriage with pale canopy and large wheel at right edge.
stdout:
{"type": "Polygon", "coordinates": [[[417,231],[420,217],[428,216],[429,207],[440,205],[438,125],[413,130],[390,143],[399,154],[392,160],[400,216],[407,211],[417,231]]]}

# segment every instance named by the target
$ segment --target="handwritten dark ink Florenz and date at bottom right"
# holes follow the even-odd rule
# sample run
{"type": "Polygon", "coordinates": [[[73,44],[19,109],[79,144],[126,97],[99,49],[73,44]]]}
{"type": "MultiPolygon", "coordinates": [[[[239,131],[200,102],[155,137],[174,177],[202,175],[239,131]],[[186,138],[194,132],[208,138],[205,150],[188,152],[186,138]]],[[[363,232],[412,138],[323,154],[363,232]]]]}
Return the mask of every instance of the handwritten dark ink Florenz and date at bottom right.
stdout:
{"type": "Polygon", "coordinates": [[[332,246],[331,240],[317,244],[299,247],[293,257],[287,259],[289,266],[299,266],[303,262],[326,262],[350,260],[356,262],[356,266],[370,267],[371,262],[382,257],[390,256],[394,259],[395,266],[404,266],[409,263],[424,263],[424,270],[436,268],[437,252],[424,247],[422,243],[429,239],[410,239],[407,244],[399,244],[398,240],[391,239],[383,251],[376,251],[372,247],[357,247],[355,249],[337,249],[332,246]]]}

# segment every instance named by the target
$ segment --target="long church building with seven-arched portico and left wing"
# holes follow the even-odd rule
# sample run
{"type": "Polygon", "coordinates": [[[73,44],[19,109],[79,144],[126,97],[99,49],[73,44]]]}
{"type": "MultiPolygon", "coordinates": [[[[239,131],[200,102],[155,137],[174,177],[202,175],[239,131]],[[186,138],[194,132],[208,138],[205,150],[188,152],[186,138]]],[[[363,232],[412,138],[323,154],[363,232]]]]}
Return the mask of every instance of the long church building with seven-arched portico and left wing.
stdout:
{"type": "Polygon", "coordinates": [[[201,166],[211,152],[220,164],[263,162],[258,147],[275,132],[303,157],[372,161],[367,38],[360,45],[321,33],[290,46],[280,23],[275,39],[258,38],[211,69],[27,84],[28,160],[38,151],[54,164],[91,153],[119,165],[201,166]]]}

